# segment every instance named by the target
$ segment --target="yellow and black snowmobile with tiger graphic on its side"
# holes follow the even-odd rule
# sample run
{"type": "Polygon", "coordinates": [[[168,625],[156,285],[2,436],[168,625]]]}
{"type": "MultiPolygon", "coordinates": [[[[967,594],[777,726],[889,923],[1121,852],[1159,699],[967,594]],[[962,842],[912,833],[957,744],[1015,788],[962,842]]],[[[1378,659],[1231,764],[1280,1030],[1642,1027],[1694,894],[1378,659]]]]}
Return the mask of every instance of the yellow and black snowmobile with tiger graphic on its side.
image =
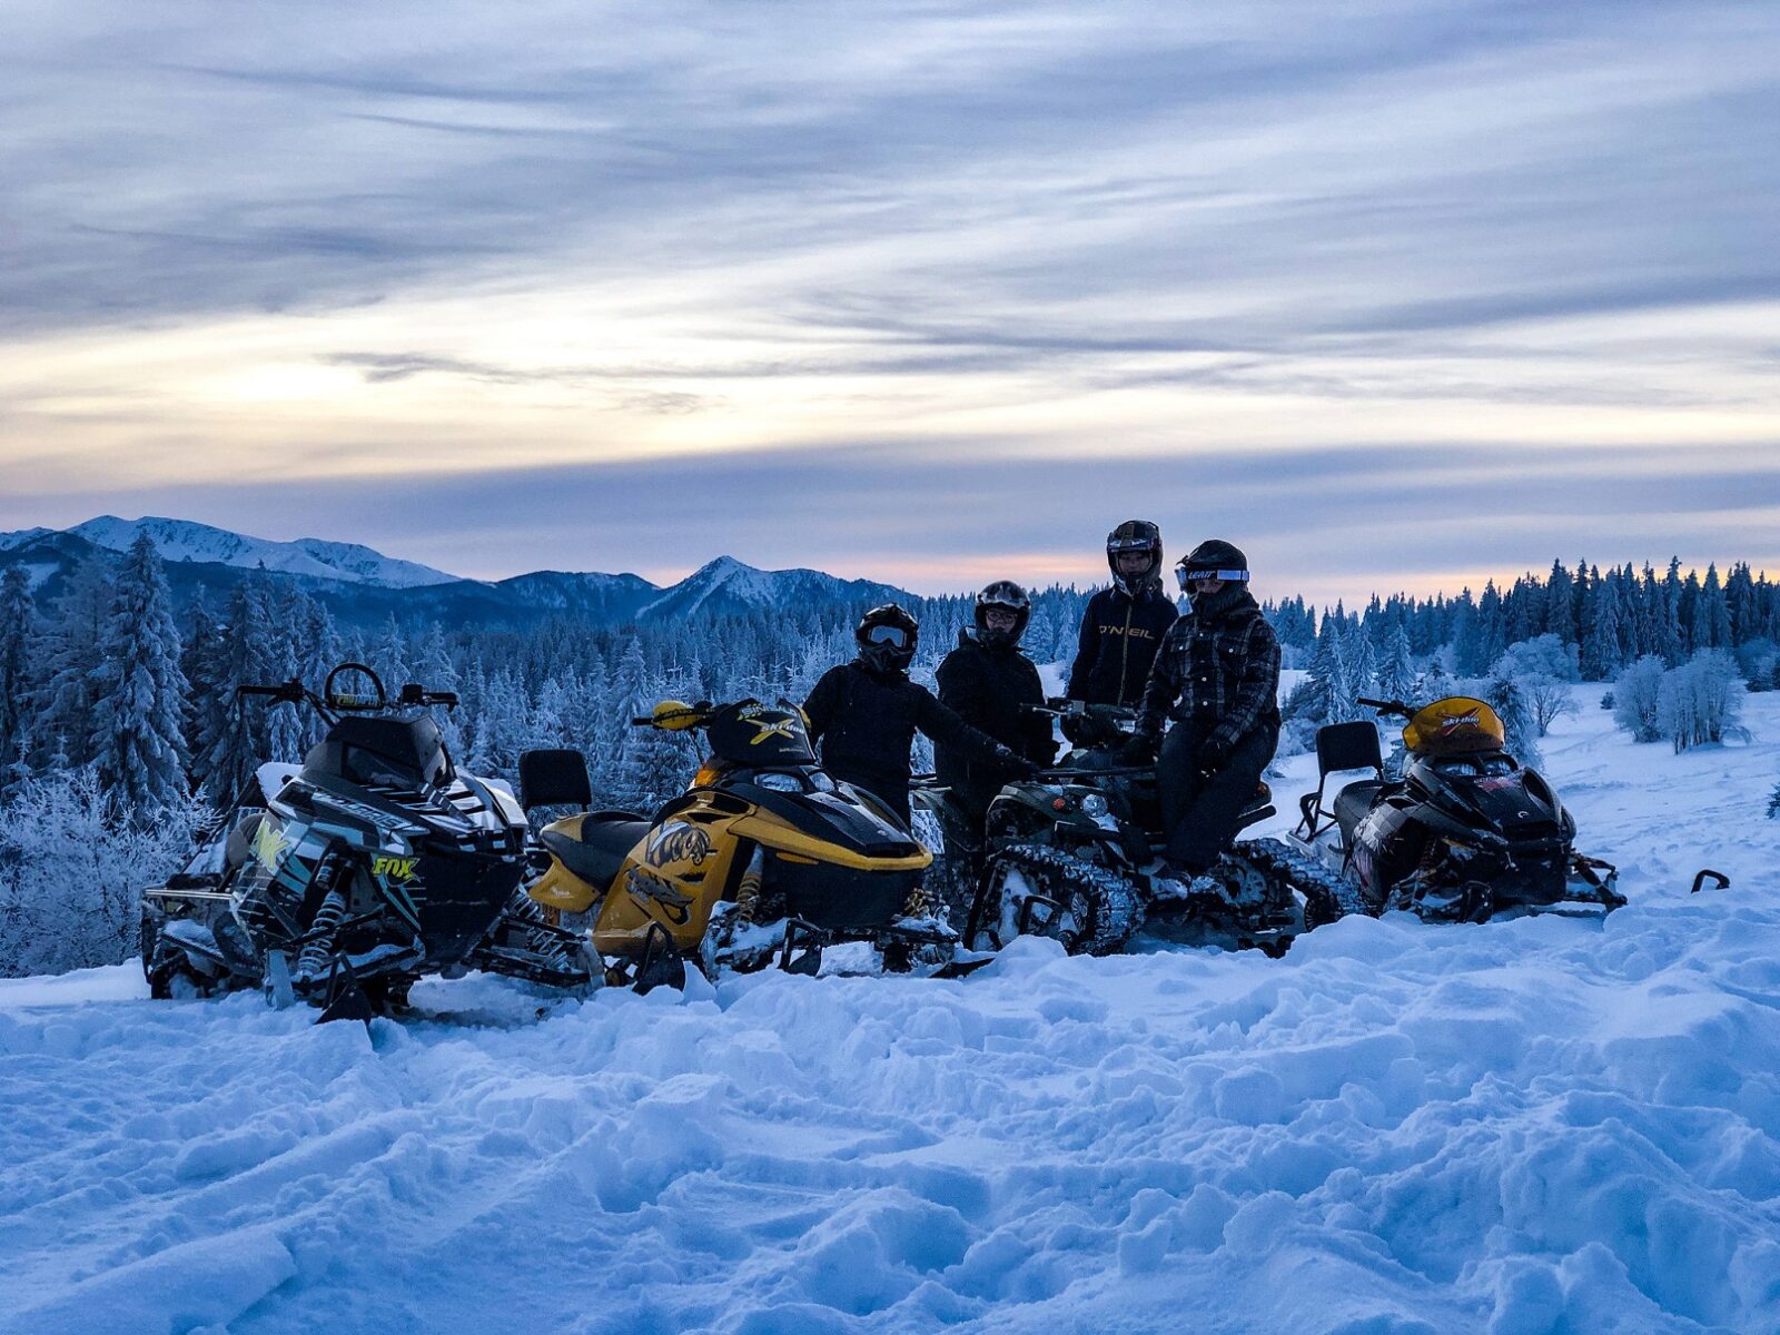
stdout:
{"type": "MultiPolygon", "coordinates": [[[[888,968],[949,963],[956,933],[927,917],[931,854],[863,789],[822,771],[787,701],[664,700],[632,726],[701,730],[710,756],[653,815],[586,812],[546,826],[532,901],[584,926],[605,983],[648,991],[765,968],[815,974],[822,951],[869,942],[888,968]]],[[[587,803],[578,751],[520,758],[529,808],[587,803]]]]}

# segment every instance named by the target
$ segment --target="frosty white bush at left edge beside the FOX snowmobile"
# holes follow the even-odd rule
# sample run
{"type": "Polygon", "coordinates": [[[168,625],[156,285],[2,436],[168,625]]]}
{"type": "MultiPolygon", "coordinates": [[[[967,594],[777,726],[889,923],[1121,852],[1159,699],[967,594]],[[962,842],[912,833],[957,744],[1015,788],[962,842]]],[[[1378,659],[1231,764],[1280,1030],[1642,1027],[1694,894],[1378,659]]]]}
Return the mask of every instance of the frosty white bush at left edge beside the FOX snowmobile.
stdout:
{"type": "Polygon", "coordinates": [[[0,803],[0,977],[116,965],[137,951],[142,886],[173,872],[208,808],[130,821],[93,765],[0,803]]]}

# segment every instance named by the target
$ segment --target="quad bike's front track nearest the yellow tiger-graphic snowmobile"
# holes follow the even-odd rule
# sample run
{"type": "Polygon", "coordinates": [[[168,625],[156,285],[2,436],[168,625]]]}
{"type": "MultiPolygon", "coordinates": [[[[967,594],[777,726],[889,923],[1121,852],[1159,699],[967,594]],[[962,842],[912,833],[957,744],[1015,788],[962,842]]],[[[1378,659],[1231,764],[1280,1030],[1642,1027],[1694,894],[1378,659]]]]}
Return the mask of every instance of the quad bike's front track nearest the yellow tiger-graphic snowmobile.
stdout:
{"type": "Polygon", "coordinates": [[[1116,954],[1143,926],[1137,886],[1118,872],[1048,844],[1015,844],[990,856],[965,943],[983,949],[988,936],[991,949],[1007,945],[1038,895],[1057,908],[1043,920],[1025,915],[1027,929],[1070,954],[1116,954]]]}

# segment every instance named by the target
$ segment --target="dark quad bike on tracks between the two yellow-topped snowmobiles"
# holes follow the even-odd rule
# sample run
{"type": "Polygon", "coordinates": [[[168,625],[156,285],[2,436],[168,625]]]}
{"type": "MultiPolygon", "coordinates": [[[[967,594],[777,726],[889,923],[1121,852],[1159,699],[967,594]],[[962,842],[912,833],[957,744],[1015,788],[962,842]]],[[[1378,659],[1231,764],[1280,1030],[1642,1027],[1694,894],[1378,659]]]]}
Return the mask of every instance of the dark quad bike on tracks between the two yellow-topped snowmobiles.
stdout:
{"type": "MultiPolygon", "coordinates": [[[[1155,767],[1118,764],[1136,710],[1057,700],[1027,707],[1068,721],[1075,749],[1032,780],[1006,785],[972,846],[949,794],[917,789],[917,803],[947,831],[951,860],[968,870],[951,883],[952,908],[968,902],[970,951],[999,951],[1015,936],[1045,934],[1072,954],[1112,954],[1139,927],[1194,945],[1282,954],[1294,936],[1358,908],[1337,878],[1282,840],[1237,842],[1212,869],[1216,892],[1157,876],[1166,844],[1155,767]]],[[[1242,810],[1246,829],[1274,813],[1262,783],[1242,810]]]]}

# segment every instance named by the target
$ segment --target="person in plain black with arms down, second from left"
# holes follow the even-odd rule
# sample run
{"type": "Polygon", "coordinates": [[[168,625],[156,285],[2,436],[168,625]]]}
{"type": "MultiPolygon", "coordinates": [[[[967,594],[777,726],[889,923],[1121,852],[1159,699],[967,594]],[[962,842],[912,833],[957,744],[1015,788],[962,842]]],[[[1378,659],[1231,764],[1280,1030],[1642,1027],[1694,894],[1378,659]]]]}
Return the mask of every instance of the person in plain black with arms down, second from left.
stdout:
{"type": "MultiPolygon", "coordinates": [[[[1038,668],[1020,650],[1031,616],[1032,600],[1025,589],[1011,580],[990,584],[977,595],[975,634],[958,632],[958,648],[945,655],[934,678],[942,705],[1034,765],[1048,765],[1057,758],[1050,719],[1025,712],[1025,705],[1045,703],[1038,668]]],[[[983,817],[1007,780],[1007,767],[943,744],[933,748],[933,762],[940,783],[952,790],[981,835],[983,817]]]]}

